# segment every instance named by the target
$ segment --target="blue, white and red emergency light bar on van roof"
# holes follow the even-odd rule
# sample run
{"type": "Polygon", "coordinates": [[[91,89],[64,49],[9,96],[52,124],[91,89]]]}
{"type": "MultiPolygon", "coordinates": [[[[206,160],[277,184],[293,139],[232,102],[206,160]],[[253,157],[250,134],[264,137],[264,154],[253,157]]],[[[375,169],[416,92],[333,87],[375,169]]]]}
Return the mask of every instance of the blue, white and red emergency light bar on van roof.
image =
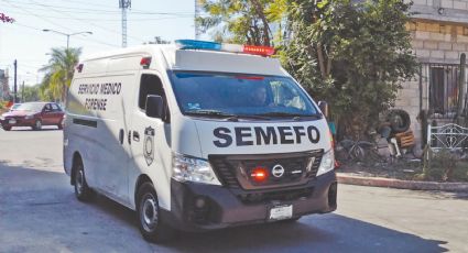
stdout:
{"type": "Polygon", "coordinates": [[[252,46],[252,45],[238,45],[226,44],[217,42],[205,42],[196,40],[176,40],[175,44],[179,50],[206,50],[206,51],[220,51],[230,53],[244,53],[261,56],[271,56],[274,54],[274,48],[270,46],[252,46]]]}

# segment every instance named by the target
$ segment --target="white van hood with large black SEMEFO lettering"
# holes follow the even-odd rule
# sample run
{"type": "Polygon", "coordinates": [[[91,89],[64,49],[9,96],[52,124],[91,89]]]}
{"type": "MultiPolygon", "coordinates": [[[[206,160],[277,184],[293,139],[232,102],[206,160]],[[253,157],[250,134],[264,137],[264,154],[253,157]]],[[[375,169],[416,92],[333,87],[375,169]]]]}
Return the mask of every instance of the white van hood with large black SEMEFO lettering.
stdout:
{"type": "Polygon", "coordinates": [[[273,154],[331,148],[326,120],[226,122],[194,120],[203,158],[211,154],[273,154]]]}

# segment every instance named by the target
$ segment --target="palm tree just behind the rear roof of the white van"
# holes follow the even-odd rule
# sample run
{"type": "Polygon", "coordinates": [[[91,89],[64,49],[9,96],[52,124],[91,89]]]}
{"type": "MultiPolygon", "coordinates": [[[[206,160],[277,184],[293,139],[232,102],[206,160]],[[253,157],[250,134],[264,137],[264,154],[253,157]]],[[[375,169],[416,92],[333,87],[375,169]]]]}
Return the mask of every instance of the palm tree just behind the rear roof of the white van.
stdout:
{"type": "Polygon", "coordinates": [[[66,102],[68,87],[80,54],[81,48],[52,48],[48,65],[41,68],[41,72],[46,73],[47,80],[43,85],[54,99],[66,102]]]}

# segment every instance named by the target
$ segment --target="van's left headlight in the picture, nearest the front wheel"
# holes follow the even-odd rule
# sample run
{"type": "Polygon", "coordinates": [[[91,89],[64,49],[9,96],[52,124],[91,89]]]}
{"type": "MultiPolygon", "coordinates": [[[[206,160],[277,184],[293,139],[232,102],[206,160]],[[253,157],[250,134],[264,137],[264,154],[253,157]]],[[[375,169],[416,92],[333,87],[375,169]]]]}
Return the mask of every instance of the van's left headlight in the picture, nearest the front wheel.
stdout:
{"type": "Polygon", "coordinates": [[[209,185],[221,185],[205,160],[173,153],[172,177],[178,182],[196,182],[209,185]]]}

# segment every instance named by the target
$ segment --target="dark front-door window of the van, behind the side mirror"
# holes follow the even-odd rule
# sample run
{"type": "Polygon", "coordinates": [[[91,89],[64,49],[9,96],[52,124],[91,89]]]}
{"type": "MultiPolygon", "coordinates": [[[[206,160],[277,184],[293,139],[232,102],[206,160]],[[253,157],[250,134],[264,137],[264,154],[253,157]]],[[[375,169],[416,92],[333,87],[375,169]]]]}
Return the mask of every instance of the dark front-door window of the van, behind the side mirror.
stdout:
{"type": "Polygon", "coordinates": [[[140,82],[140,94],[139,94],[139,99],[138,99],[138,106],[140,107],[140,109],[142,110],[146,110],[146,97],[148,95],[157,95],[161,96],[164,100],[164,105],[165,105],[165,119],[163,119],[164,121],[168,121],[168,108],[167,108],[167,100],[166,100],[166,96],[163,89],[163,84],[161,81],[161,79],[155,76],[155,75],[149,75],[149,74],[143,74],[141,75],[141,82],[140,82]]]}

